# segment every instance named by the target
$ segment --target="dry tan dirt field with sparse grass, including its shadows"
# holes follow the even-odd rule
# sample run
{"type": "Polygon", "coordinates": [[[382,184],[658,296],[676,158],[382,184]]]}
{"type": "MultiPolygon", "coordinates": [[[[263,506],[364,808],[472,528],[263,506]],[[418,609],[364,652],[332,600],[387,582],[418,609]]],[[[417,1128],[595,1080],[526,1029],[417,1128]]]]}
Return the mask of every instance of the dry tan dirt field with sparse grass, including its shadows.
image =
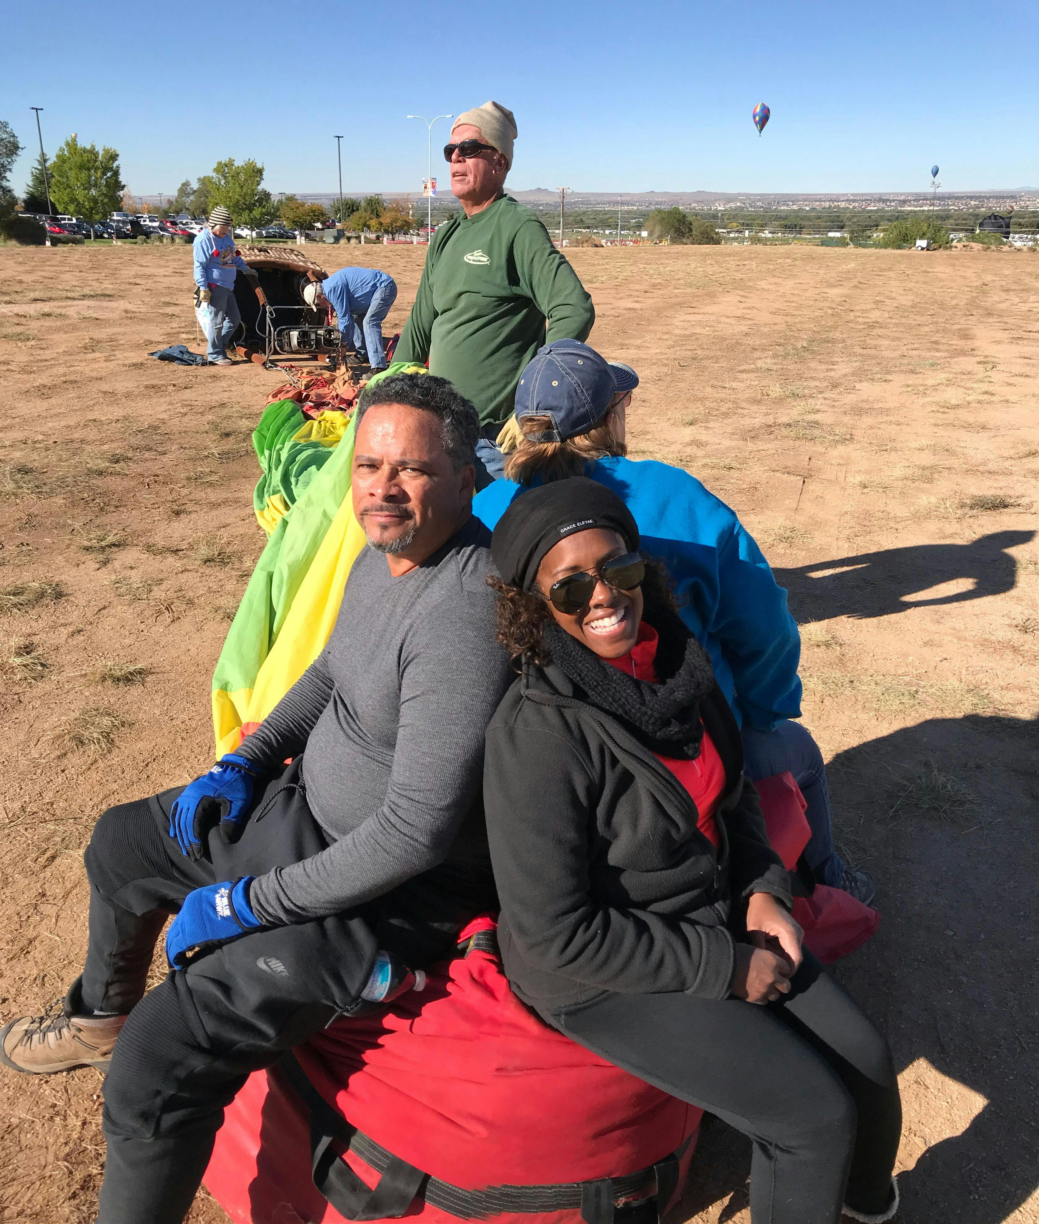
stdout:
{"type": "MultiPolygon", "coordinates": [[[[412,247],[312,248],[332,271],[412,247]]],[[[907,1224],[1039,1220],[1039,255],[579,250],[633,457],[732,504],[803,625],[804,717],[879,881],[840,977],[888,1033],[907,1224]]],[[[106,805],[212,761],[209,678],[264,537],[256,366],[179,368],[184,247],[0,248],[0,1015],[64,993],[106,805]]],[[[0,1070],[0,1220],[84,1224],[102,1077],[0,1070]]],[[[678,1220],[748,1224],[709,1126],[678,1220]]],[[[199,1196],[193,1224],[225,1217],[199,1196]]],[[[144,1222],[142,1222],[144,1224],[144,1222]]]]}

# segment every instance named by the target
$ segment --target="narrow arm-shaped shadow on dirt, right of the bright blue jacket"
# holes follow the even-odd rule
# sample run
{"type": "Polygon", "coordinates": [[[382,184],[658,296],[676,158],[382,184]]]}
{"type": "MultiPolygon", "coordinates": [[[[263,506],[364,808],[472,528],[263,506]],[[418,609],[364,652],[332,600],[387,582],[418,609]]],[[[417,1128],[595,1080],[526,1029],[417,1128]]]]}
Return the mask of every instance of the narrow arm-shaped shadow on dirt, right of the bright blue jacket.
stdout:
{"type": "Polygon", "coordinates": [[[1013,590],[1017,562],[1007,552],[1028,543],[1034,531],[994,531],[973,543],[920,543],[857,557],[837,557],[797,569],[776,569],[802,623],[835,616],[869,619],[911,608],[963,603],[1013,590]],[[946,583],[973,583],[967,590],[919,599],[946,583]]]}

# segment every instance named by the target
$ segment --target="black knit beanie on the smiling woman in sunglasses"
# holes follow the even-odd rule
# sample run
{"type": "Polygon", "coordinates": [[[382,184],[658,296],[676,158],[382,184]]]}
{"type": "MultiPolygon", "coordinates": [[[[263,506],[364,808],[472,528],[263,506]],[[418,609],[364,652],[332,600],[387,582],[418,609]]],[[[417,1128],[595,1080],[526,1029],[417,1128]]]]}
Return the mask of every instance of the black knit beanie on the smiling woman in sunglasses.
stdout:
{"type": "Polygon", "coordinates": [[[592,528],[617,531],[633,552],[639,547],[631,512],[612,490],[585,476],[553,480],[520,493],[509,506],[494,528],[491,556],[503,581],[529,591],[549,550],[592,528]]]}

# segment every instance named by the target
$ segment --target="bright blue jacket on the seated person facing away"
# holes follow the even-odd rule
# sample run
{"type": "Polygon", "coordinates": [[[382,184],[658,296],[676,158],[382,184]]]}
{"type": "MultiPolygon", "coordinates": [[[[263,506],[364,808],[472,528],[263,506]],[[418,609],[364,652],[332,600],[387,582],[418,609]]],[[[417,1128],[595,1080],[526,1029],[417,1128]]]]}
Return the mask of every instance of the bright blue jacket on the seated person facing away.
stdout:
{"type": "MultiPolygon", "coordinates": [[[[589,472],[635,517],[642,550],[674,579],[682,619],[711,656],[737,721],[771,731],[800,715],[800,634],[767,561],[735,514],[688,472],[656,460],[600,459],[589,472]]],[[[498,480],[472,510],[493,530],[523,490],[498,480]]]]}

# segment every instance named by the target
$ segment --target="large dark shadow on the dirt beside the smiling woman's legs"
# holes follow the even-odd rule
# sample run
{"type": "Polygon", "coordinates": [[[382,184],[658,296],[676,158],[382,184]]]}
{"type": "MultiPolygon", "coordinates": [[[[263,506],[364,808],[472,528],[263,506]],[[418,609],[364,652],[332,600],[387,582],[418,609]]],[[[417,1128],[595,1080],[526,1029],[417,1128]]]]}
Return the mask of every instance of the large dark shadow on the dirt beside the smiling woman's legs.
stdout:
{"type": "MultiPolygon", "coordinates": [[[[908,551],[908,550],[907,550],[908,551]]],[[[836,976],[887,1034],[985,1098],[907,1113],[906,1224],[1002,1224],[1039,1187],[1039,720],[933,718],[830,763],[838,835],[870,847],[881,924],[836,976]],[[952,1121],[951,1121],[952,1119],[952,1121]],[[926,1132],[962,1133],[928,1144],[926,1132]],[[912,1131],[912,1133],[911,1133],[912,1131]]],[[[953,1093],[955,1095],[955,1093],[953,1093]]],[[[712,1119],[672,1219],[747,1204],[750,1146],[712,1119]]]]}

